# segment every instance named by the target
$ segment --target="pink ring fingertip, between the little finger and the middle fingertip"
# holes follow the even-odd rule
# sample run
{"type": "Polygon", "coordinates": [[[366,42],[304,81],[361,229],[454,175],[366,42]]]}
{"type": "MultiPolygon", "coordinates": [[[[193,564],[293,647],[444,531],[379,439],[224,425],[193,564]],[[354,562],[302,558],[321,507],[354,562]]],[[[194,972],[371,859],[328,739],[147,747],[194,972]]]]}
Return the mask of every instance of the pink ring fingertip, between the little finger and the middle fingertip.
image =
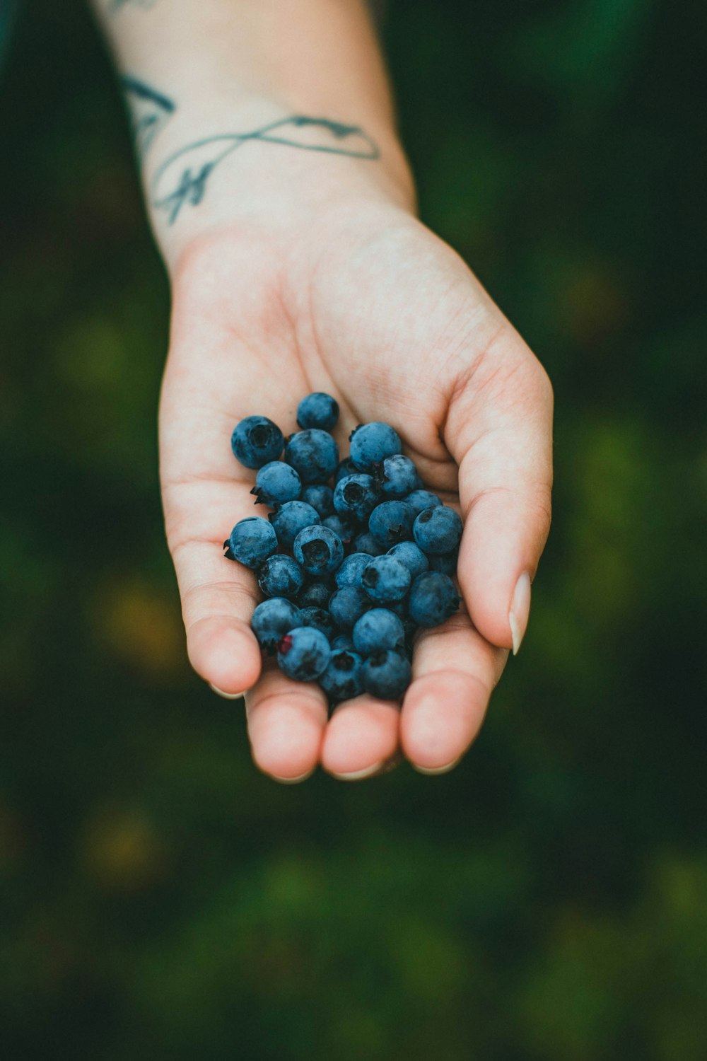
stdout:
{"type": "Polygon", "coordinates": [[[279,781],[303,781],[317,766],[326,699],[314,683],[290,681],[269,665],[246,697],[253,761],[279,781]]]}

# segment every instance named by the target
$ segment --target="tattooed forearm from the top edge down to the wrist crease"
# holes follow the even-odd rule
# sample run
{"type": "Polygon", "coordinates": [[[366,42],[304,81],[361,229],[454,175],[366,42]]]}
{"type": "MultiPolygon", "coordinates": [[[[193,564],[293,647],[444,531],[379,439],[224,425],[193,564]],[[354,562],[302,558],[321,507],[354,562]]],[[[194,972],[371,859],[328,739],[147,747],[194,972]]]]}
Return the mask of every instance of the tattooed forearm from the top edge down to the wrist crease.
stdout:
{"type": "Polygon", "coordinates": [[[360,195],[410,207],[365,0],[92,0],[167,264],[204,232],[360,195]]]}

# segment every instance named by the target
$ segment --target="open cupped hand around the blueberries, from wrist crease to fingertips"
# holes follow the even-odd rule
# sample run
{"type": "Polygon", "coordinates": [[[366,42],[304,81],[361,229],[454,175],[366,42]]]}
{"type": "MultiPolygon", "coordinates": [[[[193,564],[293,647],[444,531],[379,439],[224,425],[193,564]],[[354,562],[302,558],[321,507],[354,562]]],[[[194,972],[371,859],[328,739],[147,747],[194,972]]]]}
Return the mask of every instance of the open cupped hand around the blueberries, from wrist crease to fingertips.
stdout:
{"type": "Polygon", "coordinates": [[[318,763],[375,772],[399,748],[420,769],[448,767],[525,632],[550,520],[544,369],[458,256],[382,203],[223,228],[182,256],[173,295],[161,475],[193,666],[218,690],[246,691],[254,761],[280,780],[318,763]],[[342,456],[357,423],[388,421],[425,486],[461,505],[467,610],[419,634],[402,711],[360,696],[328,720],[318,686],[262,667],[254,576],[223,556],[237,520],[266,515],[249,493],[254,472],[231,454],[233,427],[260,413],[288,434],[312,390],[339,402],[342,456]]]}

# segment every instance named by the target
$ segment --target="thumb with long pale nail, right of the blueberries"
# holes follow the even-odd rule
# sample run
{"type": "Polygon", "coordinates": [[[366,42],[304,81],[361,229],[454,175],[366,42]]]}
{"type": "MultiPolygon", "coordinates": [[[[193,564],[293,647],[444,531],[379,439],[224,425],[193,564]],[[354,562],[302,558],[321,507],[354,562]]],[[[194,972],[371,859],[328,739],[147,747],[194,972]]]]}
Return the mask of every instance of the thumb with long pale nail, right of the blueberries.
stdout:
{"type": "Polygon", "coordinates": [[[459,464],[464,599],[484,638],[517,651],[550,525],[552,388],[510,326],[457,386],[444,435],[459,464]]]}

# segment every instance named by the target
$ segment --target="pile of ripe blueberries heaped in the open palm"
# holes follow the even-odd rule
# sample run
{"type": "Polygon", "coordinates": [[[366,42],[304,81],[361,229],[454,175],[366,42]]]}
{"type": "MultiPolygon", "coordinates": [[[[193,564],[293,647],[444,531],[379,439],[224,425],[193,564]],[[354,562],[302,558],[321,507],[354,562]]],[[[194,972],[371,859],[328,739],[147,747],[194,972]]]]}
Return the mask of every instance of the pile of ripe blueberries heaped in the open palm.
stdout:
{"type": "Polygon", "coordinates": [[[289,678],[318,681],[332,703],[363,692],[394,700],[410,683],[416,630],[459,607],[462,522],[423,489],[390,424],[357,427],[339,460],[338,416],[317,393],[286,440],[265,416],[236,424],[233,453],[258,469],[250,492],[272,511],[236,523],[224,549],[255,572],[267,599],[251,626],[289,678]]]}

